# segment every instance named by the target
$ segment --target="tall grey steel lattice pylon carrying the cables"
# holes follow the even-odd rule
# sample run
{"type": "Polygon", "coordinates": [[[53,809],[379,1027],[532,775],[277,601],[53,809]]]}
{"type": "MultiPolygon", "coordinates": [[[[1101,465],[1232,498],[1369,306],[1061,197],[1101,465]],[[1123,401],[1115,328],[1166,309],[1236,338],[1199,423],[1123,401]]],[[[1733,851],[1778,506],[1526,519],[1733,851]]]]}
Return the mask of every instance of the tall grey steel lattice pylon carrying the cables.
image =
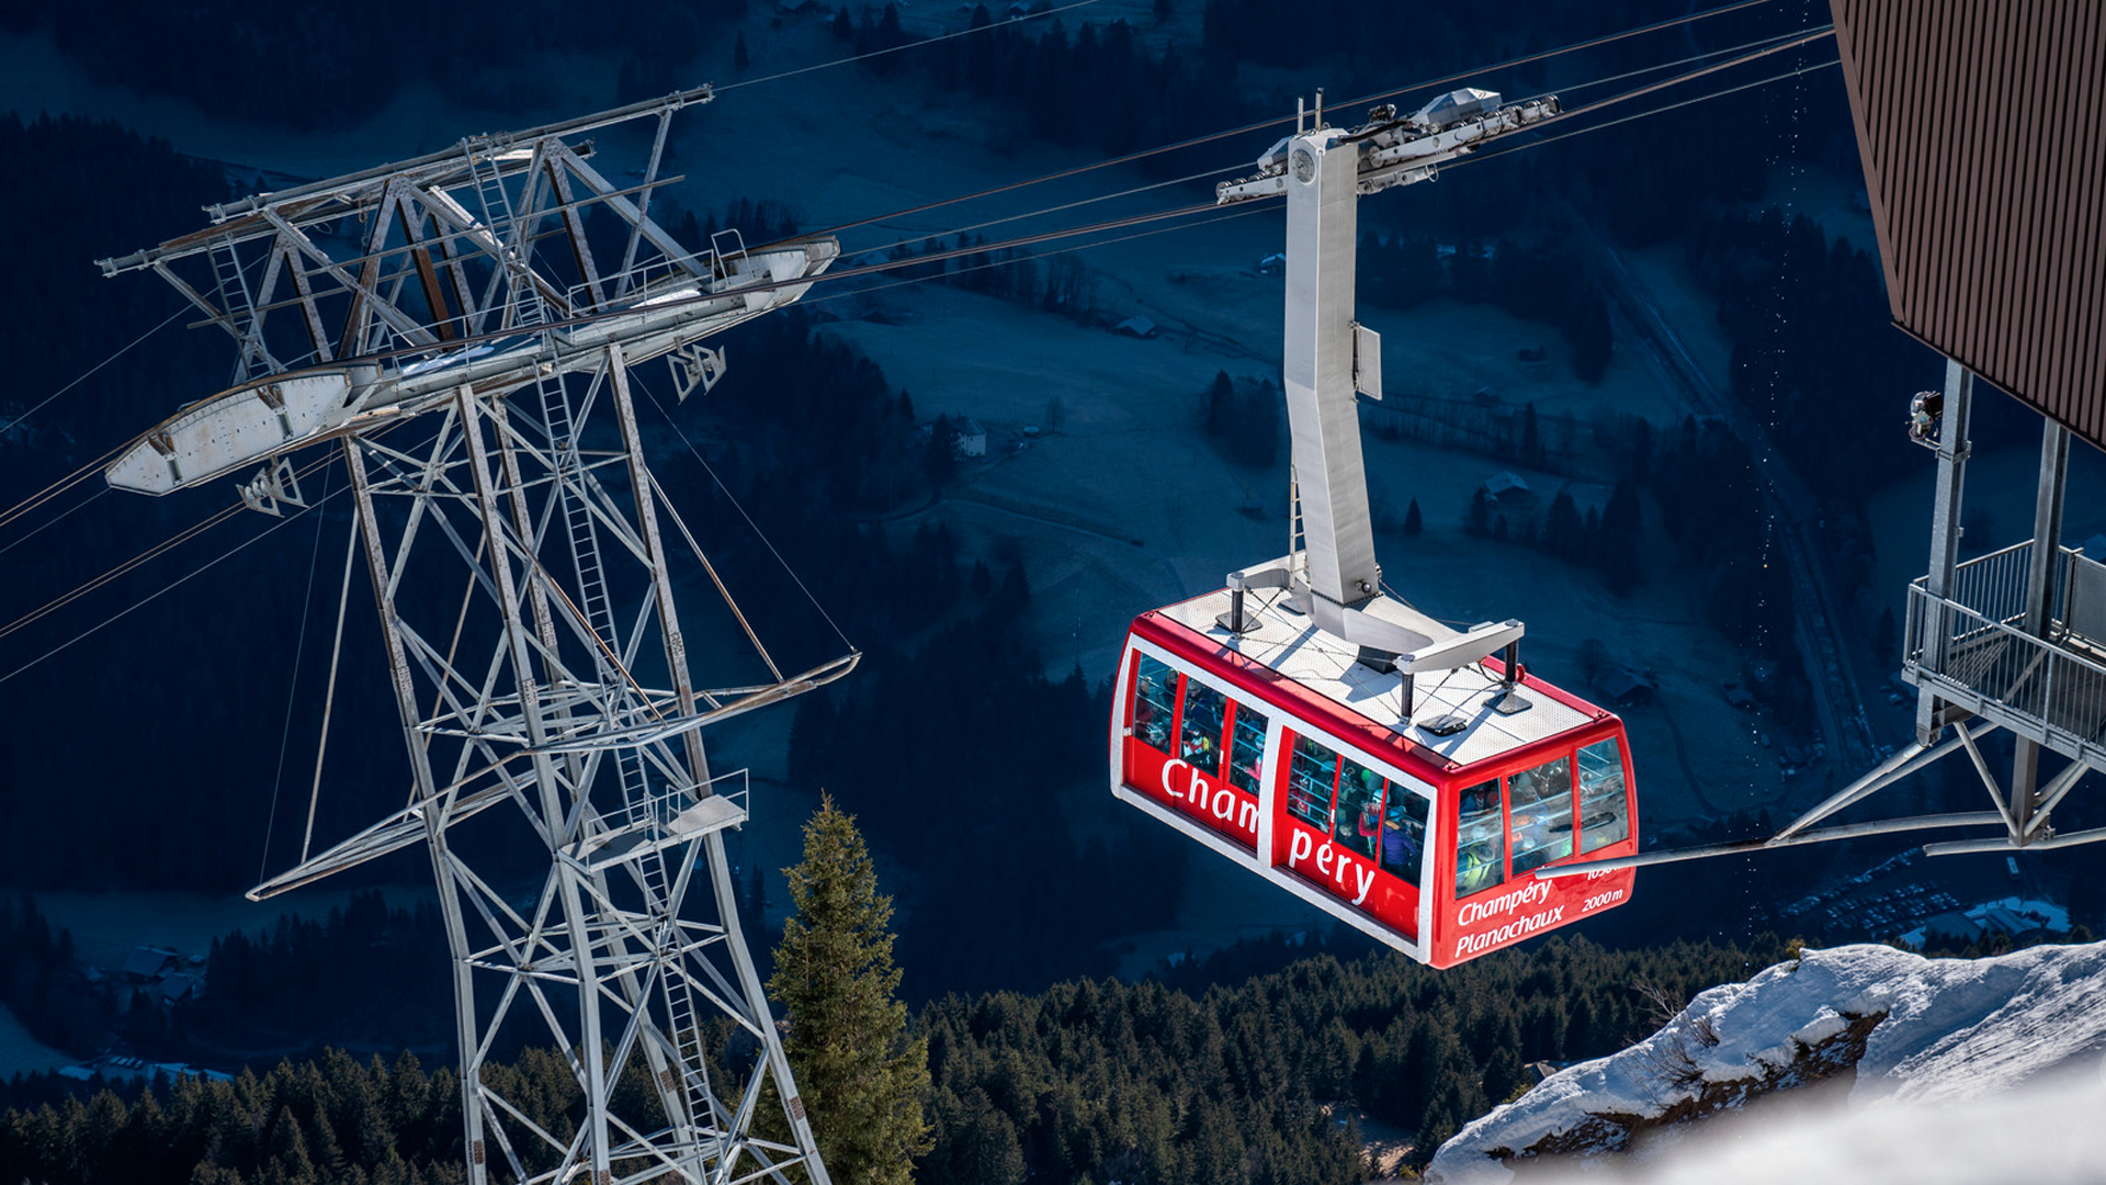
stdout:
{"type": "Polygon", "coordinates": [[[649,217],[668,120],[706,99],[259,194],[208,209],[200,234],[103,261],[158,272],[238,348],[236,386],[141,436],[112,485],[164,493],[261,462],[242,498],[284,512],[305,504],[286,455],[341,441],[350,546],[379,605],[413,786],[402,810],[251,896],[428,846],[472,1181],[828,1181],[739,932],[724,831],[746,820],[746,793],[737,774],[712,778],[701,727],[857,656],[786,677],[752,639],[773,681],[691,679],[630,367],[674,354],[682,394],[714,382],[722,354],[701,337],[796,299],[838,249],[691,253],[649,217]],[[577,137],[653,118],[642,183],[588,164],[577,137]],[[594,205],[623,230],[619,259],[588,240],[594,205]],[[564,251],[537,257],[541,238],[564,251]],[[434,597],[459,565],[465,590],[434,597]],[[548,852],[533,894],[501,892],[457,843],[503,805],[518,814],[489,820],[522,820],[548,852]],[[520,1016],[575,1073],[575,1130],[486,1073],[520,1016]]]}

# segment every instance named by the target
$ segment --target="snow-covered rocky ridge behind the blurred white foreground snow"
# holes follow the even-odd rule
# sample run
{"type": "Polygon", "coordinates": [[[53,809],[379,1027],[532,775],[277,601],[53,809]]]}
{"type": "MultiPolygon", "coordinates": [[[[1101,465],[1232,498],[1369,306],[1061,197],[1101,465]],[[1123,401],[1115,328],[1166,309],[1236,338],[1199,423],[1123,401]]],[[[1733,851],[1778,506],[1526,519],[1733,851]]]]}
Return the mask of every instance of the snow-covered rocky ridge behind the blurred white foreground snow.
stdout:
{"type": "MultiPolygon", "coordinates": [[[[2095,1092],[2100,1050],[2106,943],[1994,959],[1925,959],[1887,947],[1807,951],[1748,983],[1700,993],[1645,1042],[1565,1069],[1472,1122],[1441,1147],[1428,1179],[1512,1181],[1510,1153],[1598,1158],[1851,1067],[1851,1113],[1891,1128],[1887,1111],[1921,1109],[1950,1126],[1952,1115],[2062,1067],[2085,1067],[2085,1075],[2043,1082],[2095,1092]]],[[[2091,1149],[2106,1143],[2095,1120],[2085,1126],[2091,1149]]],[[[2106,1162],[2085,1160],[2098,1177],[2079,1179],[2106,1179],[2106,1162]]]]}

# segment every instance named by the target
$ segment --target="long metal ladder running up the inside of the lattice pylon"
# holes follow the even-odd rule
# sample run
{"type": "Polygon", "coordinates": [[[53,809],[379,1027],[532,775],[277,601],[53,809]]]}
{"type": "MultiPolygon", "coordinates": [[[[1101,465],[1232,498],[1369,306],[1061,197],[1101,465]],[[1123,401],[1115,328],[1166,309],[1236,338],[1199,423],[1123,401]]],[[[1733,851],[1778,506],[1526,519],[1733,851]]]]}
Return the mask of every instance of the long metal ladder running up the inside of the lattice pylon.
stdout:
{"type": "MultiPolygon", "coordinates": [[[[495,152],[470,150],[470,175],[476,183],[476,198],[482,205],[484,226],[497,234],[499,251],[503,255],[503,268],[510,280],[508,306],[512,310],[512,327],[533,329],[545,325],[548,310],[541,304],[541,291],[533,283],[533,272],[526,266],[524,251],[514,245],[518,219],[512,207],[512,196],[505,192],[503,175],[497,169],[495,152]]],[[[600,563],[598,529],[592,523],[592,508],[585,504],[585,466],[577,445],[577,417],[571,409],[569,392],[562,386],[562,375],[543,375],[535,382],[535,388],[541,396],[541,420],[548,428],[550,462],[556,470],[556,498],[562,506],[564,531],[571,540],[571,559],[577,565],[577,611],[585,618],[588,628],[598,635],[600,645],[604,645],[604,649],[596,647],[594,652],[594,666],[598,668],[600,685],[604,687],[623,679],[621,671],[617,671],[609,658],[609,654],[619,654],[621,643],[615,633],[613,603],[607,595],[607,574],[600,563]]],[[[653,801],[651,780],[644,770],[642,755],[636,749],[617,749],[615,768],[621,778],[623,822],[630,827],[663,827],[665,816],[670,816],[670,808],[653,801]]],[[[701,1056],[701,1025],[695,1018],[693,991],[687,976],[678,970],[678,964],[684,959],[680,949],[687,943],[680,934],[680,919],[670,909],[672,883],[665,871],[665,852],[657,846],[649,846],[636,858],[636,875],[655,913],[657,934],[653,934],[653,940],[659,945],[659,951],[670,951],[665,966],[661,966],[665,987],[665,1037],[672,1044],[674,1061],[680,1067],[680,1096],[687,1105],[689,1130],[695,1137],[697,1153],[703,1151],[703,1132],[714,1132],[716,1164],[722,1164],[724,1128],[718,1124],[714,1094],[710,1090],[708,1063],[701,1056]]]]}

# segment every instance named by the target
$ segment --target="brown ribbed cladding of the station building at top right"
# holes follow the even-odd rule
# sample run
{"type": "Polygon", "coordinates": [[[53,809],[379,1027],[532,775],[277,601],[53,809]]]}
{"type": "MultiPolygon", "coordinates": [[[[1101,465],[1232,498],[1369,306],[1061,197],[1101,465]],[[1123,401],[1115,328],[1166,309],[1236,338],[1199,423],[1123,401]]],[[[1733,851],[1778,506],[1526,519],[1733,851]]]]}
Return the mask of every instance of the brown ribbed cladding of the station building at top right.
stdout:
{"type": "Polygon", "coordinates": [[[1895,323],[2106,449],[2106,6],[1830,8],[1895,323]]]}

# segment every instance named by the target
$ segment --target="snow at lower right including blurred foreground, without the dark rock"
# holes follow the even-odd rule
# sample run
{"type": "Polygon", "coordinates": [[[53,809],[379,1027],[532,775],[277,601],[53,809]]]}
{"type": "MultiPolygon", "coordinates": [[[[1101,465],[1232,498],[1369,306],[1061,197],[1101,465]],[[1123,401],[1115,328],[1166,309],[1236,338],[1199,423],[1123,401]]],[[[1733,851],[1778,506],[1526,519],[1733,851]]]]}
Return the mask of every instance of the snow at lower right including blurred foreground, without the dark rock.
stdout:
{"type": "Polygon", "coordinates": [[[1565,1069],[1472,1122],[1441,1147],[1428,1179],[1512,1181],[1489,1149],[1525,1149],[1594,1115],[1653,1118],[1700,1092],[1761,1082],[1843,1033],[1849,1018],[1881,1012],[1847,1094],[1815,1086],[1794,1107],[1790,1092],[1775,1092],[1752,1115],[1653,1130],[1634,1141],[1634,1155],[1569,1162],[1569,1172],[1590,1181],[2106,1183],[2106,945],[1971,961],[1887,947],[1807,951],[1796,964],[1700,993],[1645,1042],[1565,1069]]]}

